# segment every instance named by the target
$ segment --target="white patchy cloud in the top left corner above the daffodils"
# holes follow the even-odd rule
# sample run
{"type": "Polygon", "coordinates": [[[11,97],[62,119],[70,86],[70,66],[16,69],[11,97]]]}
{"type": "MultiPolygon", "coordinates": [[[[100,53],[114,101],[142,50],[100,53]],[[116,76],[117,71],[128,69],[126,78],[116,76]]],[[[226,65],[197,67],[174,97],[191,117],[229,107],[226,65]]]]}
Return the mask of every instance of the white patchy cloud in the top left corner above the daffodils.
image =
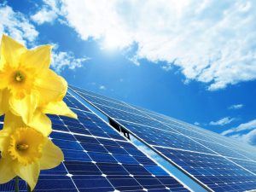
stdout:
{"type": "Polygon", "coordinates": [[[0,36],[5,33],[21,44],[33,42],[38,37],[35,27],[20,12],[15,12],[6,4],[0,4],[0,36]]]}

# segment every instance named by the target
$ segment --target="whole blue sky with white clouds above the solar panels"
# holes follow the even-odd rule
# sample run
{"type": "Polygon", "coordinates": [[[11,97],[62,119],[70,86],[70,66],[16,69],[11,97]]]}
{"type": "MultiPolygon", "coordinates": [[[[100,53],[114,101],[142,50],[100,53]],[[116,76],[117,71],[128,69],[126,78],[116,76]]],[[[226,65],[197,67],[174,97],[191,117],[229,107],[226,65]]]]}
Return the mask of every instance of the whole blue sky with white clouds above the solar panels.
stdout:
{"type": "Polygon", "coordinates": [[[52,44],[69,84],[256,145],[255,1],[0,4],[0,35],[52,44]]]}

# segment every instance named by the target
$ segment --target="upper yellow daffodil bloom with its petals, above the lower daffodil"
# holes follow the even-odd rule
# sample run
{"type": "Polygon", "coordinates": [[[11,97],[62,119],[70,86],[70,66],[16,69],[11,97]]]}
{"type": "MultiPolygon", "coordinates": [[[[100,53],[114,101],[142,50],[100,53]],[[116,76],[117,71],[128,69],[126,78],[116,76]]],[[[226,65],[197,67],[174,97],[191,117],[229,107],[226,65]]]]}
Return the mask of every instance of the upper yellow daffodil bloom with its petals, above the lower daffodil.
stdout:
{"type": "Polygon", "coordinates": [[[0,115],[11,111],[26,125],[41,127],[49,135],[51,123],[44,113],[77,118],[65,102],[67,82],[49,69],[51,46],[26,49],[3,35],[0,53],[0,115]],[[38,126],[40,125],[40,126],[38,126]]]}

